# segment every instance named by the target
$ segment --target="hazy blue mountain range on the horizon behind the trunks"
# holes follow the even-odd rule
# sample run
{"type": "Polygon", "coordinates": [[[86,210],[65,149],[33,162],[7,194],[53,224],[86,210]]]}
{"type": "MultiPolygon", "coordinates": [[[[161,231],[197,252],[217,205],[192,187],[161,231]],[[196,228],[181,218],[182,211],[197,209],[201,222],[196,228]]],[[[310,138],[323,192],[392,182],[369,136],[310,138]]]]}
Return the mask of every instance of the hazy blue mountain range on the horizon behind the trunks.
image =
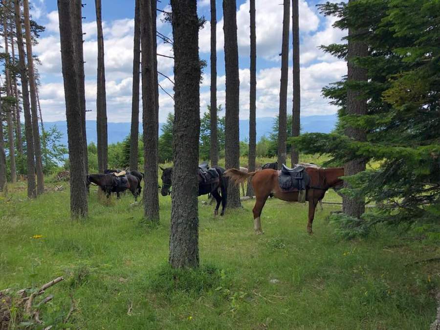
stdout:
{"type": "MultiPolygon", "coordinates": [[[[269,136],[272,132],[273,117],[257,118],[257,141],[265,135],[269,136]]],[[[331,132],[337,121],[336,114],[323,116],[307,116],[301,117],[302,132],[331,132]]],[[[44,123],[47,128],[55,126],[63,133],[61,143],[67,145],[67,126],[65,121],[55,121],[44,123]]],[[[159,123],[159,134],[162,132],[163,123],[159,123]]],[[[130,123],[107,123],[108,142],[116,143],[123,141],[130,134],[130,123]]],[[[139,124],[139,130],[142,131],[142,123],[139,124]]],[[[96,121],[86,121],[87,143],[96,143],[96,121]]],[[[244,141],[249,137],[249,120],[240,120],[240,140],[244,141]]]]}

